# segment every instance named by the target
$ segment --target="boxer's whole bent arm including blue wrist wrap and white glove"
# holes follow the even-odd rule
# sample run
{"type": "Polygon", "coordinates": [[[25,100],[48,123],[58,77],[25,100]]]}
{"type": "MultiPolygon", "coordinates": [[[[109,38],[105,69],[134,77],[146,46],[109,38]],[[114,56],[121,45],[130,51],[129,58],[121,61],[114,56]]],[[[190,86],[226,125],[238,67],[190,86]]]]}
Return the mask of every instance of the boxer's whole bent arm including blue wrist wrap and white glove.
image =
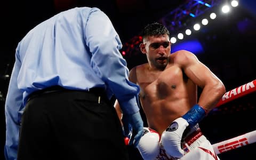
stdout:
{"type": "Polygon", "coordinates": [[[180,143],[185,129],[199,123],[207,112],[215,107],[226,90],[220,79],[193,53],[181,50],[175,54],[177,55],[174,57],[174,62],[180,65],[193,83],[203,89],[198,104],[182,117],[175,119],[162,134],[161,143],[166,148],[166,152],[180,158],[184,154],[180,143]]]}

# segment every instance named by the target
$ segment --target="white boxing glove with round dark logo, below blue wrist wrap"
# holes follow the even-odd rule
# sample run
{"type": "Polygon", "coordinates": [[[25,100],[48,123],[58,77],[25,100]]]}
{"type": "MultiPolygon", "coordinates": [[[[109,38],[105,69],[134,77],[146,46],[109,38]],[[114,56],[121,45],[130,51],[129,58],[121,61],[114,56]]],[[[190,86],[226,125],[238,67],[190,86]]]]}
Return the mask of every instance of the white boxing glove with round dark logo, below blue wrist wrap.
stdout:
{"type": "Polygon", "coordinates": [[[175,158],[181,158],[185,154],[181,148],[181,138],[188,125],[186,119],[180,117],[175,119],[162,133],[161,145],[167,154],[175,158]]]}

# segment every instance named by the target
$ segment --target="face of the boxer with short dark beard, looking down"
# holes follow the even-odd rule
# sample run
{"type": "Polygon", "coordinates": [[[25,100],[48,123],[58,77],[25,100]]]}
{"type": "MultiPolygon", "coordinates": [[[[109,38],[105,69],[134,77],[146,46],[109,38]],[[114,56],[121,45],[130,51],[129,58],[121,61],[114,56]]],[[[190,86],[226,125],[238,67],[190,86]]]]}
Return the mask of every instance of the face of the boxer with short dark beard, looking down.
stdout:
{"type": "Polygon", "coordinates": [[[171,52],[171,43],[168,35],[149,36],[140,45],[142,53],[147,55],[149,64],[157,69],[164,69],[171,52]]]}

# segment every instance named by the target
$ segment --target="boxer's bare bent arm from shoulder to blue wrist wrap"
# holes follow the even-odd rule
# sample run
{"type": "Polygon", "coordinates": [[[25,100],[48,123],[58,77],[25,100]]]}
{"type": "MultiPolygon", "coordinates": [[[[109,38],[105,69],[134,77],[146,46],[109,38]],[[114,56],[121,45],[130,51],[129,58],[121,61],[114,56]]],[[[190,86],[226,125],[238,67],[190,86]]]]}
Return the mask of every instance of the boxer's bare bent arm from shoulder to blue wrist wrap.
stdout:
{"type": "Polygon", "coordinates": [[[175,63],[180,65],[193,83],[202,88],[198,105],[207,111],[212,110],[222,95],[226,93],[225,86],[220,79],[191,52],[179,51],[175,57],[175,63]]]}

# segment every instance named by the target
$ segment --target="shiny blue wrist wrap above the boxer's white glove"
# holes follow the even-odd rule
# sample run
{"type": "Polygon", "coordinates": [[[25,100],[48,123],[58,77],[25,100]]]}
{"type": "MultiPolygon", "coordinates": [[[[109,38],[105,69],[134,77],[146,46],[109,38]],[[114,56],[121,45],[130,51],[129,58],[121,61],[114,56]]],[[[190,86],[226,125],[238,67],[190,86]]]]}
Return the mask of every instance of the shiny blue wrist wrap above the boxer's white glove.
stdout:
{"type": "Polygon", "coordinates": [[[190,127],[193,127],[200,122],[205,115],[205,110],[196,104],[185,115],[183,115],[182,118],[186,119],[190,127]]]}

